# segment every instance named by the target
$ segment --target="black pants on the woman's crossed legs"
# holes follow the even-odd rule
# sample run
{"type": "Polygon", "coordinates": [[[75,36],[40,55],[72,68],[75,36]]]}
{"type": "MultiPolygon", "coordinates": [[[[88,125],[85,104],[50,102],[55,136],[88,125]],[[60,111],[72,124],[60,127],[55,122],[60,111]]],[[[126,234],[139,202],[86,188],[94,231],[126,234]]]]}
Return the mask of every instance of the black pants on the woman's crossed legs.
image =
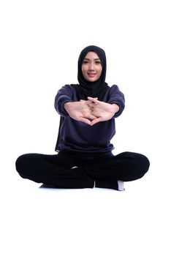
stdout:
{"type": "Polygon", "coordinates": [[[142,178],[149,165],[147,157],[132,152],[113,156],[60,151],[56,155],[23,154],[16,161],[16,169],[23,178],[73,189],[93,188],[94,181],[96,187],[117,189],[118,180],[142,178]]]}

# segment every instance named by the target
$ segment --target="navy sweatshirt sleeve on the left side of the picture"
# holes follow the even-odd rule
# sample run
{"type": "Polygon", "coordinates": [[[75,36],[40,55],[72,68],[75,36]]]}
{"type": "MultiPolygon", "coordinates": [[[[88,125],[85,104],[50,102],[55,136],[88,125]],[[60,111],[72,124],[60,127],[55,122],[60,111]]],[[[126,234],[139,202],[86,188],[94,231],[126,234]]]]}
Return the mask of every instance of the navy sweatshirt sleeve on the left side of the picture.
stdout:
{"type": "Polygon", "coordinates": [[[73,102],[72,96],[72,86],[62,86],[61,89],[58,90],[55,98],[55,109],[60,116],[69,116],[69,114],[64,109],[64,104],[66,102],[73,102]]]}

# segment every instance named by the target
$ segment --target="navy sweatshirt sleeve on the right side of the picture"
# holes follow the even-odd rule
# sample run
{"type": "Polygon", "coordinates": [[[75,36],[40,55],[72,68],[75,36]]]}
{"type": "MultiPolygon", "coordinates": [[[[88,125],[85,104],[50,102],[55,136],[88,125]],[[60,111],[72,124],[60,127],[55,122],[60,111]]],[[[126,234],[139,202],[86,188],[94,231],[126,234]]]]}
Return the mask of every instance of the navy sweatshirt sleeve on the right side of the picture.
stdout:
{"type": "Polygon", "coordinates": [[[107,103],[110,103],[110,104],[115,103],[119,106],[118,112],[115,113],[115,116],[113,117],[116,118],[121,115],[121,113],[123,112],[123,109],[125,108],[125,98],[124,98],[124,94],[118,89],[118,86],[113,85],[110,88],[110,97],[107,103]]]}

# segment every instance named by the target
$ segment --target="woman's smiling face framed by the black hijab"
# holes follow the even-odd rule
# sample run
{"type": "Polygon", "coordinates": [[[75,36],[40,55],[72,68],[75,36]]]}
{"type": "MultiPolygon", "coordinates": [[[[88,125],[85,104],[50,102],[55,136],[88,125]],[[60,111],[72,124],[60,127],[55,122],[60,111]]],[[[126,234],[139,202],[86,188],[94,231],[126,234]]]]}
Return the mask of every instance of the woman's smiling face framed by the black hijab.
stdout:
{"type": "Polygon", "coordinates": [[[89,51],[82,64],[83,77],[88,82],[95,82],[102,74],[102,63],[99,56],[94,51],[89,51]]]}

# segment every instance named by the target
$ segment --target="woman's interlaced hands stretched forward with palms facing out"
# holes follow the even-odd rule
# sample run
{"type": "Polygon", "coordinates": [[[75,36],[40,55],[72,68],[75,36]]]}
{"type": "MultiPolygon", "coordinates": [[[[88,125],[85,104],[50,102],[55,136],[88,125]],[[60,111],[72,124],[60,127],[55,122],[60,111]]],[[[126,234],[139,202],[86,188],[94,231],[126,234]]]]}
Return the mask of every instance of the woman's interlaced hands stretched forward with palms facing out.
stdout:
{"type": "Polygon", "coordinates": [[[66,102],[64,108],[71,118],[91,126],[99,121],[110,120],[119,110],[118,105],[101,102],[93,97],[80,99],[80,102],[66,102]]]}

